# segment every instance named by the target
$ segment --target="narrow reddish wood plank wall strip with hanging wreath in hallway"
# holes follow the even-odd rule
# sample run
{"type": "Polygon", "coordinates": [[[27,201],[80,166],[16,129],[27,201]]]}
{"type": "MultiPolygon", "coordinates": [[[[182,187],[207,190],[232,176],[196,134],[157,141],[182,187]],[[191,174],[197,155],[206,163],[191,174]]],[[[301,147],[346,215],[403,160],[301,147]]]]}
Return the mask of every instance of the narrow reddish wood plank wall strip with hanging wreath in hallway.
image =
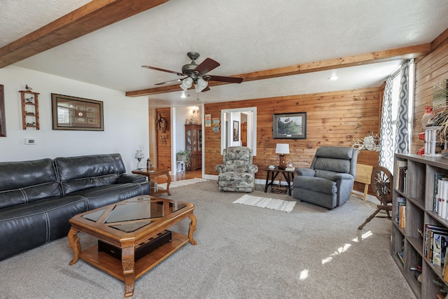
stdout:
{"type": "Polygon", "coordinates": [[[162,132],[157,132],[157,167],[171,169],[171,109],[162,108],[156,109],[156,119],[160,113],[162,118],[167,119],[167,132],[165,133],[166,139],[162,137],[162,132]]]}

